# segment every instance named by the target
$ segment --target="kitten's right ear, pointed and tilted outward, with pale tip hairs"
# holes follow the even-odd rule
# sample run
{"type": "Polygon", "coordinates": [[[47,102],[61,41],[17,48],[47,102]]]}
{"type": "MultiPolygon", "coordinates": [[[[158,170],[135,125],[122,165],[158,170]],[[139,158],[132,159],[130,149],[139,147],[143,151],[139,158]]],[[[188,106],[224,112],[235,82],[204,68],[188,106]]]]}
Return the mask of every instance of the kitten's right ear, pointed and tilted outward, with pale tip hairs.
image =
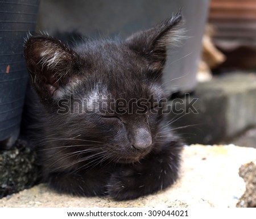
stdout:
{"type": "Polygon", "coordinates": [[[180,11],[156,27],[134,33],[126,39],[127,45],[141,54],[156,70],[166,61],[166,46],[178,44],[183,36],[183,18],[180,11]]]}

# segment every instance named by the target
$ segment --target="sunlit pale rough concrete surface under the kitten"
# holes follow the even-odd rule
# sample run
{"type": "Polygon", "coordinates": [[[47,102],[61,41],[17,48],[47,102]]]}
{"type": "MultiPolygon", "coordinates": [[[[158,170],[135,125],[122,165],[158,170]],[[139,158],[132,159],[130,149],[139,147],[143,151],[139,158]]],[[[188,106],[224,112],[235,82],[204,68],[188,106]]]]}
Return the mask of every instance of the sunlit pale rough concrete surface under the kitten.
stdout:
{"type": "Polygon", "coordinates": [[[0,207],[236,207],[246,190],[238,170],[255,158],[254,148],[192,145],[184,148],[180,179],[153,195],[117,202],[62,195],[40,184],[4,197],[0,207]]]}

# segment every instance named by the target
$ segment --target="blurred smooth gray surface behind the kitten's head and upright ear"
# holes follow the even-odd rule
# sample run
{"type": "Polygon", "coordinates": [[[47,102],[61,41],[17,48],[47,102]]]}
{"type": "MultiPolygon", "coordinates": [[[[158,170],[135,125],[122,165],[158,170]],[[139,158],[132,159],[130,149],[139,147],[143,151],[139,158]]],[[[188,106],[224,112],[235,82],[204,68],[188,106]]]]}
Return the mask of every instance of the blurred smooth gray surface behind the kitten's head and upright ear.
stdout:
{"type": "Polygon", "coordinates": [[[38,29],[47,30],[50,35],[56,30],[76,30],[93,37],[126,37],[170,18],[181,7],[188,39],[168,53],[163,81],[168,94],[185,92],[196,86],[208,3],[209,0],[42,0],[38,29]]]}

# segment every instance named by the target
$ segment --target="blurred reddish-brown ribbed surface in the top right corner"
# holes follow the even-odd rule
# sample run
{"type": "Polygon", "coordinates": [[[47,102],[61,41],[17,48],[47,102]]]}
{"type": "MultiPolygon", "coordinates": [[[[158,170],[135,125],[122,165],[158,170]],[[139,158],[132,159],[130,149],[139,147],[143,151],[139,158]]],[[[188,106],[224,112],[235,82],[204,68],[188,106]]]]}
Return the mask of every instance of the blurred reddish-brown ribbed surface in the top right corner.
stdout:
{"type": "Polygon", "coordinates": [[[256,45],[255,0],[212,0],[209,22],[217,27],[216,40],[256,45]]]}

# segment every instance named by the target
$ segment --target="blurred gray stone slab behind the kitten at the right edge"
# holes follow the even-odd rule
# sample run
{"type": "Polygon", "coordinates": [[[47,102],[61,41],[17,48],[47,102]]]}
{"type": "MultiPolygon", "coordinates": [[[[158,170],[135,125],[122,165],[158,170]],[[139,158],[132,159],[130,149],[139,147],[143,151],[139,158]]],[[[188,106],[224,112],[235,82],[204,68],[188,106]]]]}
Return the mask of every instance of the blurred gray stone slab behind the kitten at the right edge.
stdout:
{"type": "Polygon", "coordinates": [[[181,103],[177,104],[178,113],[170,113],[170,119],[187,144],[229,143],[237,134],[256,127],[255,73],[230,72],[214,77],[199,83],[188,95],[169,102],[171,106],[181,103]],[[188,108],[193,99],[196,102],[192,112],[188,108]]]}

